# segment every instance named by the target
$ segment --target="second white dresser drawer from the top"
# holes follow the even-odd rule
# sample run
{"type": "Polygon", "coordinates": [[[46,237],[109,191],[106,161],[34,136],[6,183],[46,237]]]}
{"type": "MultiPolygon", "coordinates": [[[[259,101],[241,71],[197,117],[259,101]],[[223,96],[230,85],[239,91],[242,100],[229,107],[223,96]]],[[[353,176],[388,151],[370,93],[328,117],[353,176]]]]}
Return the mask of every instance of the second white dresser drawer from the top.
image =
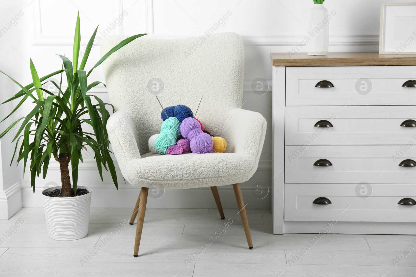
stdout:
{"type": "Polygon", "coordinates": [[[412,137],[416,135],[416,127],[401,126],[406,120],[416,120],[416,107],[286,107],[285,144],[403,145],[409,140],[416,142],[412,137]],[[333,127],[315,127],[320,120],[329,121],[333,127]]]}

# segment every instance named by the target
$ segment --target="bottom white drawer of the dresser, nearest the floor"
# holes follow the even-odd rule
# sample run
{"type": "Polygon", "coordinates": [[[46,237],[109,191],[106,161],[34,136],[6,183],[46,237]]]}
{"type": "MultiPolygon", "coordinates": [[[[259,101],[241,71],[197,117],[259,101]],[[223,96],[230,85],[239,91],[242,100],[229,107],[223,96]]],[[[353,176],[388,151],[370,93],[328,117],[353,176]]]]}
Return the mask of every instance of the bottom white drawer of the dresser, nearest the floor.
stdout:
{"type": "MultiPolygon", "coordinates": [[[[401,199],[416,200],[416,185],[358,184],[358,190],[371,191],[357,196],[357,184],[285,184],[285,221],[374,221],[416,222],[416,206],[398,204],[401,199]],[[331,202],[314,204],[319,197],[331,202]]],[[[359,194],[359,193],[358,193],[359,194]]]]}

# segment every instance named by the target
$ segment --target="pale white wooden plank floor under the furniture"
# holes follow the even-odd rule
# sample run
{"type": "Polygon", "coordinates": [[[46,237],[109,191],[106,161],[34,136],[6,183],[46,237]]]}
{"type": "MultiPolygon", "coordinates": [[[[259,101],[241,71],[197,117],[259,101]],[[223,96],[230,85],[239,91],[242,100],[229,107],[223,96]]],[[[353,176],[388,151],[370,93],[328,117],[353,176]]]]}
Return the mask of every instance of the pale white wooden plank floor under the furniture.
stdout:
{"type": "Polygon", "coordinates": [[[0,221],[0,235],[14,232],[6,240],[2,237],[0,277],[416,276],[416,249],[396,267],[392,262],[410,244],[416,245],[416,236],[327,234],[290,265],[292,255],[314,235],[273,235],[270,210],[247,210],[254,244],[249,250],[237,210],[224,212],[221,220],[216,209],[148,209],[135,258],[136,223],[116,229],[124,218],[130,219],[131,209],[92,208],[88,236],[64,242],[48,238],[43,208],[22,208],[10,220],[0,221]],[[233,223],[208,245],[205,240],[228,218],[233,223]],[[18,220],[24,223],[11,229],[18,220]],[[184,260],[202,244],[207,249],[187,266],[184,260]],[[87,259],[91,252],[96,254],[87,259]]]}

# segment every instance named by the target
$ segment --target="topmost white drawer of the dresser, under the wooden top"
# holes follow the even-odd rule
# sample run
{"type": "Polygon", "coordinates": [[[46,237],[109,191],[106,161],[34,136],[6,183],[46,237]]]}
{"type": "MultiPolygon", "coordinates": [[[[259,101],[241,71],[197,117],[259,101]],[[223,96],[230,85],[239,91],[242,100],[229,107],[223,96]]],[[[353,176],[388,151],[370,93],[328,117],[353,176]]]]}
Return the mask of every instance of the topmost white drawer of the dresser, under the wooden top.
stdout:
{"type": "Polygon", "coordinates": [[[416,66],[287,67],[286,105],[416,105],[416,88],[402,86],[409,80],[416,66]],[[317,88],[319,81],[334,87],[317,88]]]}

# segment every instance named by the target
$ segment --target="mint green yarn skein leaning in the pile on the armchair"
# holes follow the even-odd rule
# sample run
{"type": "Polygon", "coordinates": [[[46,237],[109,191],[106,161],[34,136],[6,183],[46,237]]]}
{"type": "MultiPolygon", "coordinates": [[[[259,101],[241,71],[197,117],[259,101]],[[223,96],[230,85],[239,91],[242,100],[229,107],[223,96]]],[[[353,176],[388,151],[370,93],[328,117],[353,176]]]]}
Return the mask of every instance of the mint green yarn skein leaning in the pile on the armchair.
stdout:
{"type": "Polygon", "coordinates": [[[164,155],[170,146],[176,145],[178,137],[181,135],[180,127],[181,122],[174,116],[163,121],[162,127],[160,128],[160,135],[157,137],[153,146],[157,154],[164,155]]]}

